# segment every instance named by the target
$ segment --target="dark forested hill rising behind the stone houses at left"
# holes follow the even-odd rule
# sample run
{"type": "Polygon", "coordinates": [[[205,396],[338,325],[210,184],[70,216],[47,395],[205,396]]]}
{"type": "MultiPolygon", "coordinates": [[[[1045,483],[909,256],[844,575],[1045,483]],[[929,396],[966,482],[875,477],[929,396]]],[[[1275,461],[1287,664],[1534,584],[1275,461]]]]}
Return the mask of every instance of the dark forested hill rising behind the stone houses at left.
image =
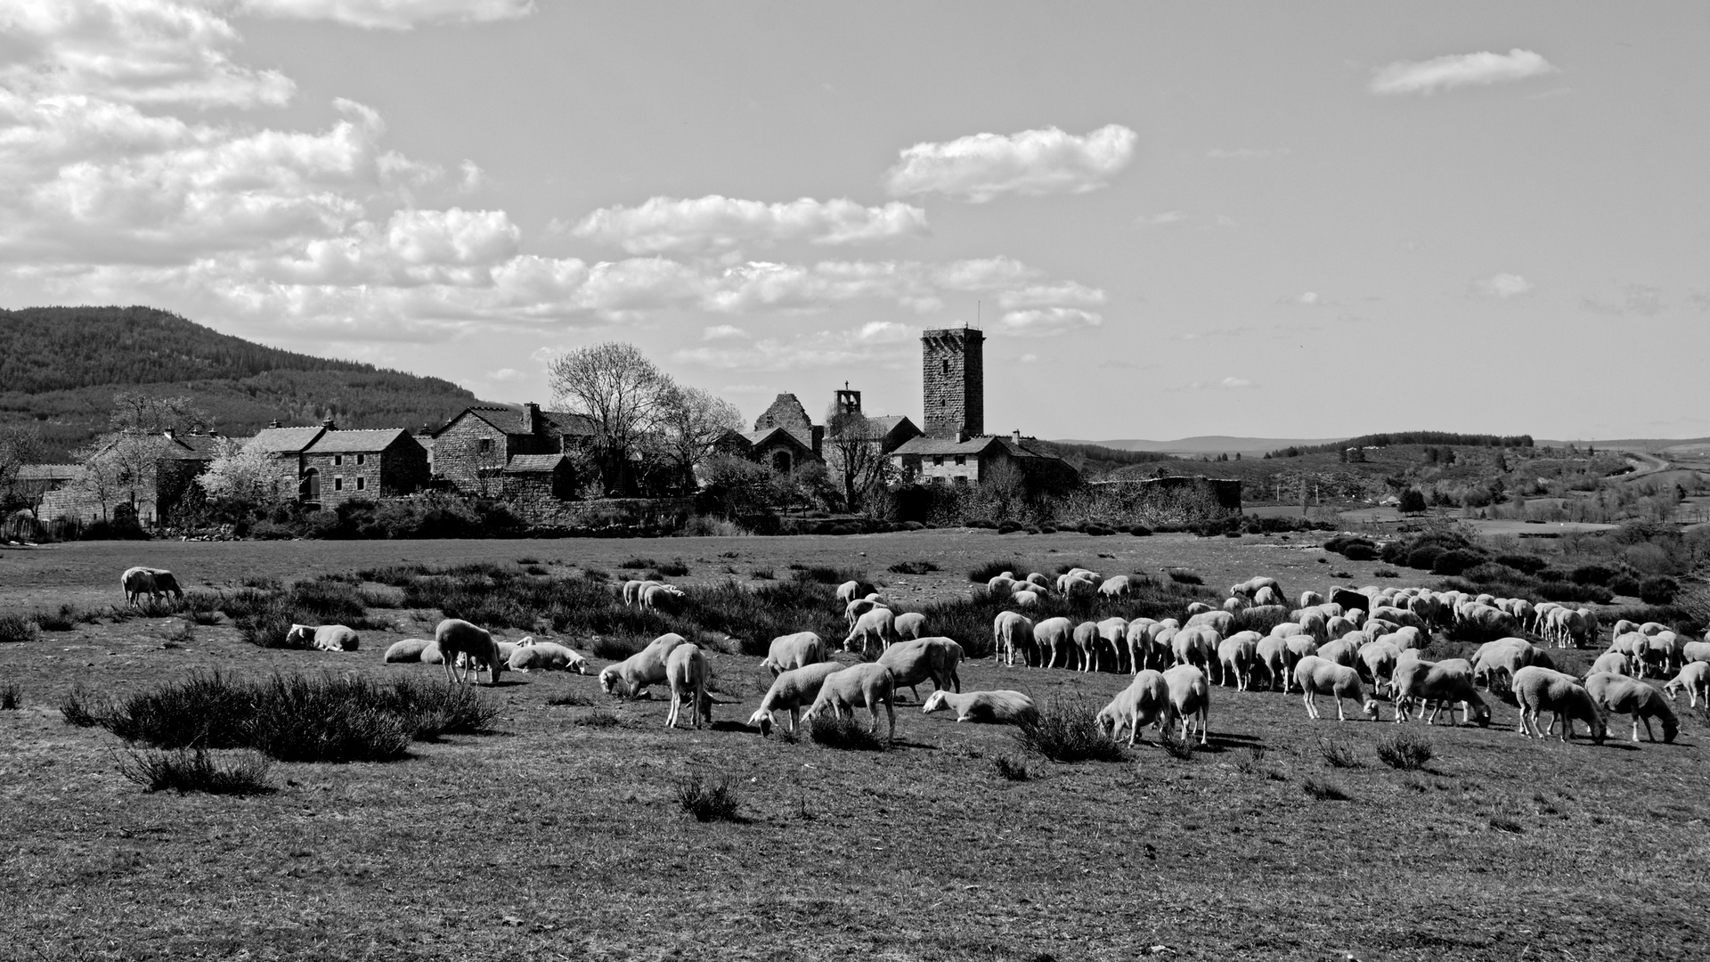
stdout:
{"type": "Polygon", "coordinates": [[[446,380],[265,347],[154,308],[0,310],[0,423],[34,423],[46,460],[108,430],[118,392],[190,395],[224,435],[323,418],[416,430],[475,404],[446,380]]]}

